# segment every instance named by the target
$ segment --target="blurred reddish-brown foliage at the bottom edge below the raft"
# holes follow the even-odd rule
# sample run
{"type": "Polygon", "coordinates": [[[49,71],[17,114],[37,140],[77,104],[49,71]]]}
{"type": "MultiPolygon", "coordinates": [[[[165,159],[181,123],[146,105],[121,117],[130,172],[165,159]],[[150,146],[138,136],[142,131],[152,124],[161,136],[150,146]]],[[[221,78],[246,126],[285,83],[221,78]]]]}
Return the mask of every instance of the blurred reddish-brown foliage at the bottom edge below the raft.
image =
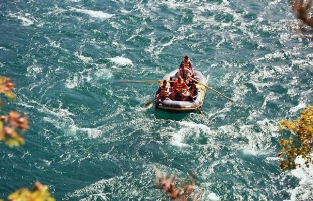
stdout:
{"type": "MultiPolygon", "coordinates": [[[[172,175],[172,177],[168,177],[166,173],[160,172],[156,167],[155,169],[155,184],[160,189],[164,190],[168,193],[170,199],[173,200],[181,200],[187,201],[191,198],[191,194],[193,190],[196,188],[194,179],[191,178],[191,182],[182,185],[181,187],[176,188],[176,175],[172,175]]],[[[199,198],[199,194],[193,195],[191,198],[192,201],[197,201],[199,198]]]]}

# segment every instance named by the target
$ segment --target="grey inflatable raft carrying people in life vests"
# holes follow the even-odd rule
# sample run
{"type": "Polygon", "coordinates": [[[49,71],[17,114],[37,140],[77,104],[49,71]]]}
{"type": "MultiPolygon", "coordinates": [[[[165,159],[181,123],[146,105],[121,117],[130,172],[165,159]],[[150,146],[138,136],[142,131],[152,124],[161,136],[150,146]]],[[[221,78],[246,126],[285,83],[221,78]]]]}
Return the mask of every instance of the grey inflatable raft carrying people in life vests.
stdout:
{"type": "MultiPolygon", "coordinates": [[[[166,74],[162,80],[175,80],[177,77],[175,76],[178,70],[174,70],[168,74],[166,74]]],[[[208,82],[208,76],[205,77],[201,72],[194,71],[194,78],[198,81],[207,84],[208,82]]],[[[170,82],[171,87],[173,87],[173,82],[170,82]]],[[[204,101],[204,97],[206,94],[206,87],[201,84],[196,84],[198,88],[198,96],[195,99],[195,101],[176,101],[176,100],[164,100],[162,102],[159,102],[155,99],[155,108],[170,111],[170,112],[191,112],[197,109],[197,107],[201,107],[204,101]]],[[[160,88],[160,86],[159,86],[160,88]]],[[[156,90],[154,98],[156,97],[157,92],[156,90]]]]}

